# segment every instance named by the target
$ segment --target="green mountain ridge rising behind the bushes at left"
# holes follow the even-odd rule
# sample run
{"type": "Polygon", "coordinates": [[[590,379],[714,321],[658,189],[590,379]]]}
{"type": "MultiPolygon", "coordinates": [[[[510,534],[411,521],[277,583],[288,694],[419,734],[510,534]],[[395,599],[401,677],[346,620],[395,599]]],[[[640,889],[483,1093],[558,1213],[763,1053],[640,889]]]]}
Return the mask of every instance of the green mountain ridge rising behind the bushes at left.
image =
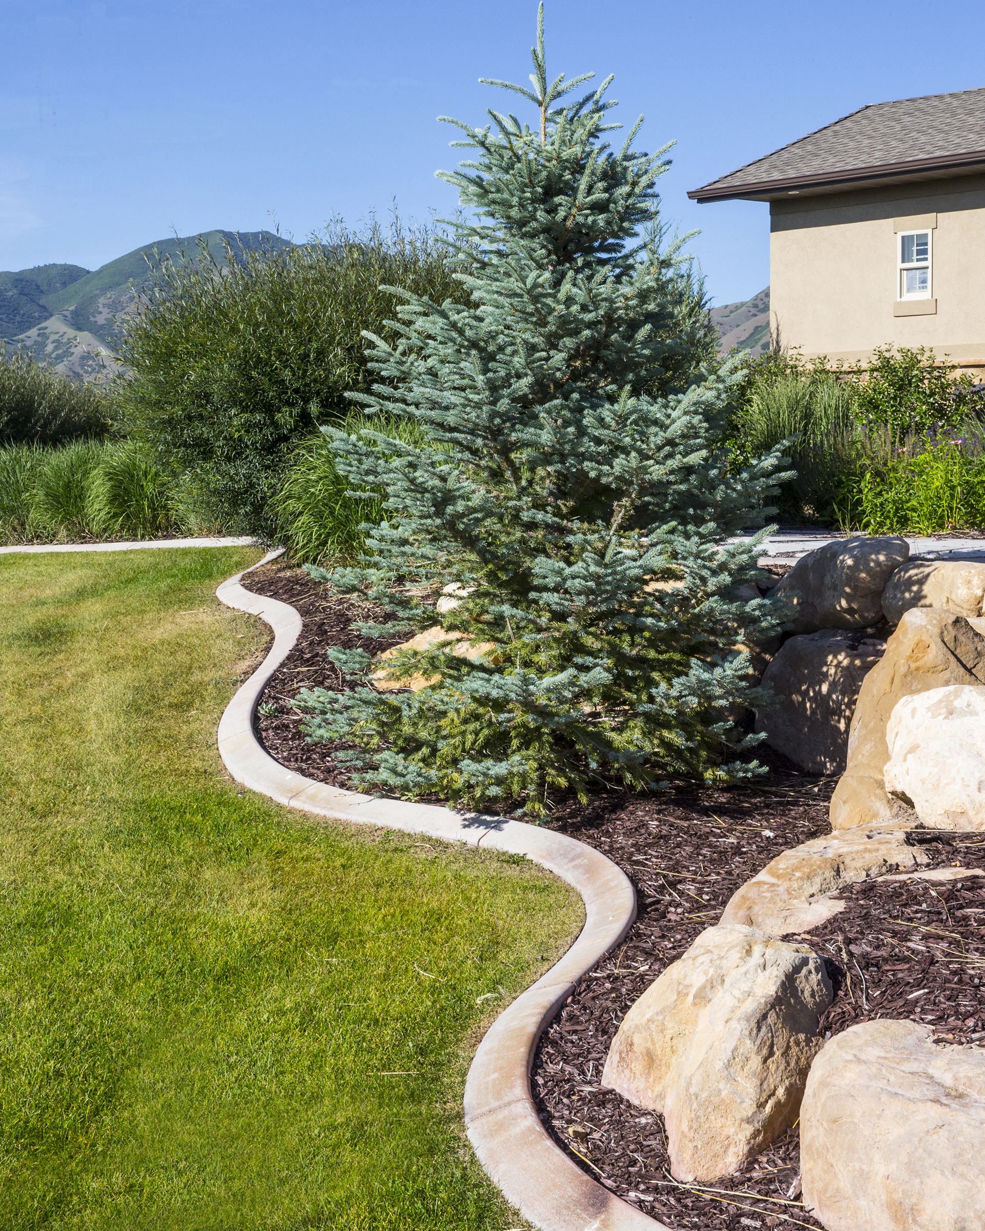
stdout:
{"type": "MultiPolygon", "coordinates": [[[[224,243],[233,252],[249,251],[266,243],[289,244],[271,231],[207,231],[202,239],[209,252],[225,263],[224,243]]],[[[147,282],[148,261],[156,249],[160,256],[195,251],[196,236],[158,240],[118,256],[98,270],[79,265],[41,265],[33,270],[0,272],[0,342],[12,342],[33,352],[60,372],[82,379],[98,379],[108,371],[100,352],[116,343],[115,316],[123,315],[147,282]],[[147,254],[147,257],[145,255],[147,254]]]]}

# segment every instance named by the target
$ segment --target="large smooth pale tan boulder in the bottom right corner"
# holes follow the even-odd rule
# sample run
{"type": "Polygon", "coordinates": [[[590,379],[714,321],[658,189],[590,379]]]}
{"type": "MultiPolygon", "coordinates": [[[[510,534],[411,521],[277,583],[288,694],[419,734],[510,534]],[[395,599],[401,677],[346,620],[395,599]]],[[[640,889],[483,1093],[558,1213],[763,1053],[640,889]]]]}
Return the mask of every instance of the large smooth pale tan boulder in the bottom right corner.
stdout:
{"type": "Polygon", "coordinates": [[[985,1053],[915,1022],[826,1044],[800,1107],[804,1205],[827,1231],[985,1227],[985,1053]]]}

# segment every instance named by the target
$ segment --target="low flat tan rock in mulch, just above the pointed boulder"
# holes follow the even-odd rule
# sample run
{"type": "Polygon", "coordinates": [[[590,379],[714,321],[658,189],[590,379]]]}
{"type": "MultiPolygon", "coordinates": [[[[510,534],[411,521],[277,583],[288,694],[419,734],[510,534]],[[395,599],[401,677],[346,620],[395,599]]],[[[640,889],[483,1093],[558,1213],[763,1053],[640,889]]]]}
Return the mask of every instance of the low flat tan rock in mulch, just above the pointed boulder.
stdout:
{"type": "Polygon", "coordinates": [[[862,826],[792,847],[729,899],[720,924],[745,924],[770,936],[809,932],[845,904],[834,895],[858,880],[917,869],[930,860],[906,831],[862,826]]]}

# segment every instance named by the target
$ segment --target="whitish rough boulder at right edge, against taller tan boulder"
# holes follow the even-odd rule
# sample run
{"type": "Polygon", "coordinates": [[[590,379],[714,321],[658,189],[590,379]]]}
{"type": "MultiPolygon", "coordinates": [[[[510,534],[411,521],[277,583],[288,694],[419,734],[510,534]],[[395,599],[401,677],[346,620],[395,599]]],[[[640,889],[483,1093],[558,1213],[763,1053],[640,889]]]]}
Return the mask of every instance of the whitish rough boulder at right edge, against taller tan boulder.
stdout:
{"type": "Polygon", "coordinates": [[[939,830],[985,830],[985,688],[904,697],[885,731],[886,793],[939,830]]]}

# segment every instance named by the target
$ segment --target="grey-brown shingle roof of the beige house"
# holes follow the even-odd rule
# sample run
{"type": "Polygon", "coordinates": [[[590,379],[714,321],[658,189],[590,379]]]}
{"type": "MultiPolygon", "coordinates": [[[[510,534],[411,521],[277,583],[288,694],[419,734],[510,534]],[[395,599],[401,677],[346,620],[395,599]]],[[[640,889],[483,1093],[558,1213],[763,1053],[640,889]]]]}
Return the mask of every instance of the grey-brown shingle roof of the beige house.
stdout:
{"type": "MultiPolygon", "coordinates": [[[[877,102],[749,162],[688,193],[738,194],[742,187],[784,180],[830,181],[851,172],[900,169],[930,160],[942,165],[980,154],[985,161],[985,89],[877,102]]],[[[857,176],[856,176],[857,177],[857,176]]]]}

